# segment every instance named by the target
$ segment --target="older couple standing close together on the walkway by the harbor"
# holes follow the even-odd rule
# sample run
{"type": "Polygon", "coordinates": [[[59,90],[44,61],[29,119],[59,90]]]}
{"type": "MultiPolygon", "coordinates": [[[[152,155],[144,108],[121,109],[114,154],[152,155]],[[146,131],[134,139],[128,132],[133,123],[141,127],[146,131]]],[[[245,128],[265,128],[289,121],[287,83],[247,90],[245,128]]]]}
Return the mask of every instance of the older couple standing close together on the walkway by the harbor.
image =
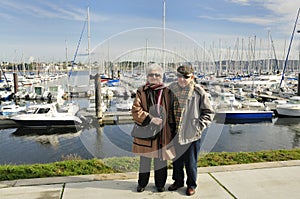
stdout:
{"type": "Polygon", "coordinates": [[[146,84],[137,90],[134,121],[162,127],[155,139],[133,138],[132,151],[140,156],[137,192],[143,192],[149,182],[153,159],[158,192],[165,191],[167,160],[172,160],[174,183],[168,190],[175,191],[186,183],[186,195],[195,194],[201,134],[211,123],[214,110],[207,93],[195,83],[193,72],[190,65],[179,66],[177,81],[166,87],[162,67],[152,64],[146,71],[146,84]]]}

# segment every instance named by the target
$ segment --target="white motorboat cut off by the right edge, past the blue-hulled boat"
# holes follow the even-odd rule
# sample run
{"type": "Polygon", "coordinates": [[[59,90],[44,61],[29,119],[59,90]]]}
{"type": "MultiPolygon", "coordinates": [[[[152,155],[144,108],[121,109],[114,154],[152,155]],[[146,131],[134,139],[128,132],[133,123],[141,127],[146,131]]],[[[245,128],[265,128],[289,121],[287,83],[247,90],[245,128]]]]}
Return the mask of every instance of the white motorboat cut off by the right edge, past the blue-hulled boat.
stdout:
{"type": "Polygon", "coordinates": [[[276,108],[279,117],[300,117],[300,96],[291,97],[286,104],[276,108]]]}

